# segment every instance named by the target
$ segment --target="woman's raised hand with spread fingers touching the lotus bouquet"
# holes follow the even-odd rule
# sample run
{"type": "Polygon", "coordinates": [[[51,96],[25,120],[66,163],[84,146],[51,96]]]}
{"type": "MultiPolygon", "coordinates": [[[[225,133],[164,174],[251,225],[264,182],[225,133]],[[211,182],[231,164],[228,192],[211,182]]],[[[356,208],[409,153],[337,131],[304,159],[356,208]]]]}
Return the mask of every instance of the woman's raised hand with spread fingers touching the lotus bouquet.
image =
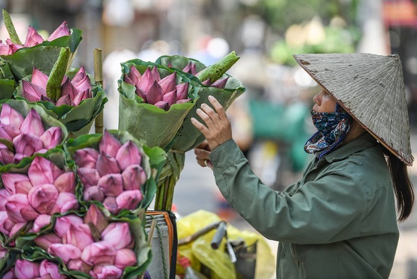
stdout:
{"type": "Polygon", "coordinates": [[[210,150],[214,150],[225,141],[231,139],[231,125],[223,106],[218,100],[213,96],[208,96],[208,101],[210,101],[215,110],[211,109],[207,104],[202,104],[201,109],[197,109],[197,114],[206,125],[203,125],[195,118],[191,118],[191,122],[206,137],[210,150]]]}

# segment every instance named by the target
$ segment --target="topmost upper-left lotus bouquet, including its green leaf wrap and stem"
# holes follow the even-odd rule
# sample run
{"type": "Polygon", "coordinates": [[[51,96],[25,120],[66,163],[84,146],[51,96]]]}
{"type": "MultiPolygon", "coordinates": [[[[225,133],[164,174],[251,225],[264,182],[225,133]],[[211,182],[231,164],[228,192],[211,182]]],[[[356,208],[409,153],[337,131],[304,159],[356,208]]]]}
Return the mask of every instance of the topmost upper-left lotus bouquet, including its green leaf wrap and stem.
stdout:
{"type": "Polygon", "coordinates": [[[70,49],[65,69],[70,67],[81,42],[81,30],[68,29],[67,23],[63,22],[47,40],[44,40],[29,26],[26,41],[22,44],[6,10],[3,10],[3,20],[10,39],[6,40],[6,44],[0,44],[0,58],[10,66],[16,81],[31,74],[33,67],[49,74],[63,47],[70,49]]]}

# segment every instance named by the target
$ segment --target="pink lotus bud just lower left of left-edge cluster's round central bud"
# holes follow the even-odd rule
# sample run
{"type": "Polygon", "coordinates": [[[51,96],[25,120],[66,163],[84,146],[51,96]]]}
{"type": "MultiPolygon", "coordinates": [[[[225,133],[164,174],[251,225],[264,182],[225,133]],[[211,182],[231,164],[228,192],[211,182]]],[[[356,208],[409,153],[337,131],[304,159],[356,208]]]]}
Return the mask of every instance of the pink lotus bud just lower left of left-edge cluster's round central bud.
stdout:
{"type": "Polygon", "coordinates": [[[39,215],[28,202],[28,196],[17,193],[7,198],[4,206],[11,221],[14,223],[22,223],[35,220],[39,215]]]}

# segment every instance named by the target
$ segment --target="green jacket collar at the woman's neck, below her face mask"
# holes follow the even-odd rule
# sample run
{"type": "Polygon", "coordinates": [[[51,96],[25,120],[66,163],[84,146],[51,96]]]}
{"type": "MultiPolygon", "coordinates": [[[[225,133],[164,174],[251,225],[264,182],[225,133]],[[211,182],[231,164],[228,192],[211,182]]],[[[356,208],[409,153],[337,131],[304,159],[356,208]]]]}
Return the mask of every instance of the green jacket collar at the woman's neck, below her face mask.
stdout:
{"type": "Polygon", "coordinates": [[[325,159],[329,163],[334,161],[341,161],[356,152],[366,150],[373,147],[374,145],[377,145],[377,140],[371,134],[365,132],[361,134],[361,136],[355,138],[353,141],[343,144],[333,152],[325,155],[325,159]]]}

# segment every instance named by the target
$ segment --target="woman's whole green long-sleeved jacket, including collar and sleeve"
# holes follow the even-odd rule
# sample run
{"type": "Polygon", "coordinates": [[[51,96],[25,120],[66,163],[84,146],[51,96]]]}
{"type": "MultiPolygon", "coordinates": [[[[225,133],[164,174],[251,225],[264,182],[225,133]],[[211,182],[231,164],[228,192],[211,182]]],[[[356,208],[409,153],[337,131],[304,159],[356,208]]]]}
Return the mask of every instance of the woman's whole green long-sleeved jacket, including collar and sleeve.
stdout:
{"type": "Polygon", "coordinates": [[[233,140],[211,152],[229,204],[279,241],[277,278],[389,278],[398,244],[393,186],[381,146],[366,133],[316,158],[283,192],[256,177],[233,140]]]}

